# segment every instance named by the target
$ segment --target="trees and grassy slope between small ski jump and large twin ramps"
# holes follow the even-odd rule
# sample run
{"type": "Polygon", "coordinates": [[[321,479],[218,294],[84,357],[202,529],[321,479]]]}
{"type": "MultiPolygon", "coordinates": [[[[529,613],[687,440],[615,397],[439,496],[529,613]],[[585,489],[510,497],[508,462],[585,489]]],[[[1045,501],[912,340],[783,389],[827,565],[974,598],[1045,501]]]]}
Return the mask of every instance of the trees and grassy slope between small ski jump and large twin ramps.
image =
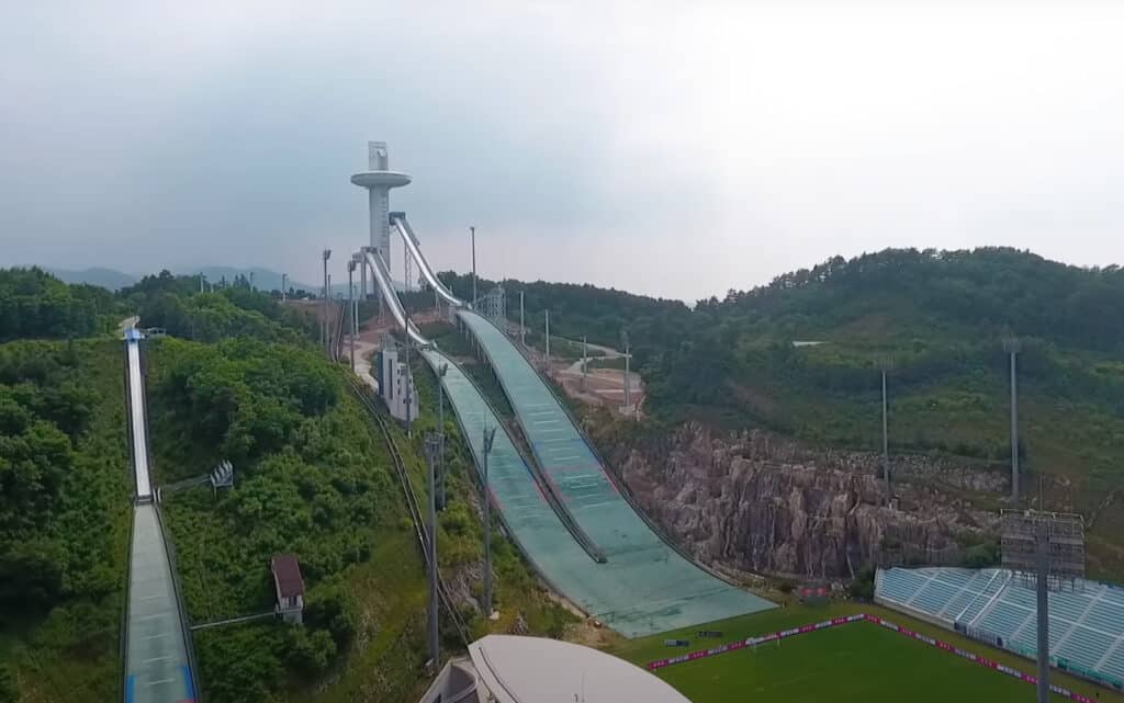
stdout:
{"type": "MultiPolygon", "coordinates": [[[[253,339],[162,339],[149,348],[157,482],[201,474],[224,458],[237,472],[236,486],[217,496],[193,489],[164,502],[192,620],[269,610],[269,562],[278,553],[298,555],[308,587],[303,628],[239,626],[197,638],[208,700],[299,699],[329,670],[342,676],[341,695],[360,681],[379,700],[408,695],[424,659],[422,560],[389,455],[344,392],[339,369],[315,350],[253,339]],[[380,672],[374,683],[373,672],[380,672]]],[[[433,389],[423,386],[426,413],[415,440],[396,430],[418,487],[419,442],[434,423],[433,389]]],[[[466,456],[451,441],[441,536],[448,569],[480,558],[466,456]]],[[[496,545],[508,617],[520,613],[535,631],[560,632],[569,618],[537,595],[510,545],[498,536],[496,545]]],[[[487,622],[465,615],[479,627],[487,622]]]]}

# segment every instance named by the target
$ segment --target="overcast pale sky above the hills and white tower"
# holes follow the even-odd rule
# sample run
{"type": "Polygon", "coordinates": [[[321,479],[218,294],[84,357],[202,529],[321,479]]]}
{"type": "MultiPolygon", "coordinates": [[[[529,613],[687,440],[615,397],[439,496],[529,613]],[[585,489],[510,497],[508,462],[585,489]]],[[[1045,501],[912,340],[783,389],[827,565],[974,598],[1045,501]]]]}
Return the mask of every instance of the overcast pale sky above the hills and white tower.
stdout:
{"type": "Polygon", "coordinates": [[[368,139],[434,265],[475,225],[490,277],[694,300],[889,246],[1121,263],[1121,37],[1082,0],[8,2],[0,265],[316,281],[368,238],[368,139]]]}

